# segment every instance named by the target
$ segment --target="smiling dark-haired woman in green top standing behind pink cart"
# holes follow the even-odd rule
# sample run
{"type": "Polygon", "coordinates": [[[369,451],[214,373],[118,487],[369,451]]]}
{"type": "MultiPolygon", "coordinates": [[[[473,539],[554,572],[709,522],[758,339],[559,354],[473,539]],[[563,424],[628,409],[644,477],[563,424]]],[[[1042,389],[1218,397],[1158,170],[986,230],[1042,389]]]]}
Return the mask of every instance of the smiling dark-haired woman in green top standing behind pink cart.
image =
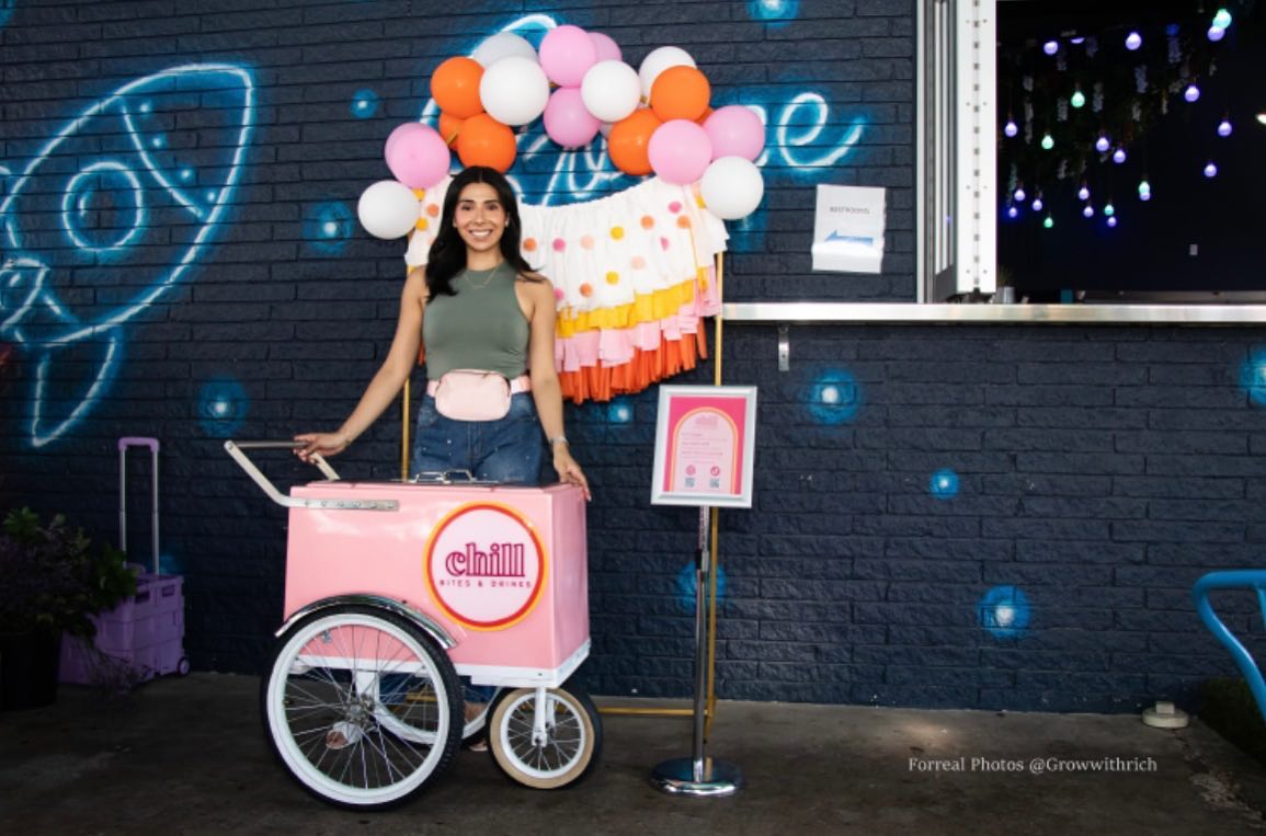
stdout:
{"type": "Polygon", "coordinates": [[[296,436],[298,453],[342,452],[386,410],[419,349],[427,395],[418,411],[414,476],[468,470],[479,479],[537,484],[542,430],[563,482],[589,491],[563,435],[555,369],[555,292],[520,250],[518,201],[504,176],[471,167],[444,194],[424,267],[409,272],[382,368],[335,433],[296,436]]]}

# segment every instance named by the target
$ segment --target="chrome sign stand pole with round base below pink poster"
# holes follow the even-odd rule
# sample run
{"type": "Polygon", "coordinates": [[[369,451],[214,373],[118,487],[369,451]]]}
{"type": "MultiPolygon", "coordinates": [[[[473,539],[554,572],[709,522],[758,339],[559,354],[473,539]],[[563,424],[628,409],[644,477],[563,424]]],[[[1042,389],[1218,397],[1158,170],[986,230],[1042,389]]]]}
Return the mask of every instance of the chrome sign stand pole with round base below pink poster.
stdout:
{"type": "Polygon", "coordinates": [[[651,784],[672,796],[730,796],[743,785],[743,774],[734,764],[708,758],[704,728],[708,708],[708,589],[711,586],[711,560],[708,543],[708,506],[699,508],[699,553],[695,560],[695,725],[691,758],[674,758],[651,771],[651,784]]]}

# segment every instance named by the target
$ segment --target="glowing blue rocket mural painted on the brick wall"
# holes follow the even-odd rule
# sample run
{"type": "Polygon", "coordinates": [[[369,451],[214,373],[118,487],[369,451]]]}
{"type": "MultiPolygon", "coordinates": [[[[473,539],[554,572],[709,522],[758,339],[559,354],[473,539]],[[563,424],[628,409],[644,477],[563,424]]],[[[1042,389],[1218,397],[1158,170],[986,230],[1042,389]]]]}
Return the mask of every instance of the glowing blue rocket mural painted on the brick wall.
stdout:
{"type": "Polygon", "coordinates": [[[106,391],[125,326],[184,280],[242,172],[254,85],[233,65],[132,81],[61,128],[0,202],[0,341],[34,369],[29,439],[62,436],[106,391]],[[201,118],[185,126],[182,111],[201,118]],[[58,373],[73,363],[78,377],[58,373]]]}

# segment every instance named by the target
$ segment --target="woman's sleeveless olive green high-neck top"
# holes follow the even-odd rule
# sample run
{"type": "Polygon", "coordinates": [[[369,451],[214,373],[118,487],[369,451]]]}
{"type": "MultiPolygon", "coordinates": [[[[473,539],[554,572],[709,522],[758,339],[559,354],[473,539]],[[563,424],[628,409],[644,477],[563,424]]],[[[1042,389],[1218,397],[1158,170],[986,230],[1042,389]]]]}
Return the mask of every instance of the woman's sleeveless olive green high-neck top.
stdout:
{"type": "Polygon", "coordinates": [[[422,341],[427,377],[472,368],[514,379],[528,368],[528,320],[514,292],[514,266],[463,269],[453,277],[457,296],[427,301],[422,341]]]}

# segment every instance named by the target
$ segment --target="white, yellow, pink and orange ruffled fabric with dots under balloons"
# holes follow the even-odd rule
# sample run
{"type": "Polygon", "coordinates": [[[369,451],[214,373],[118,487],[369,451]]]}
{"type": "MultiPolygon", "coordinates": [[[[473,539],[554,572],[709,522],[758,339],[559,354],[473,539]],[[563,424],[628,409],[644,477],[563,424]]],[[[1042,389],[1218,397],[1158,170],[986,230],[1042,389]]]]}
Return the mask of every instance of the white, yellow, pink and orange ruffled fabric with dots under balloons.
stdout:
{"type": "MultiPolygon", "coordinates": [[[[427,190],[405,261],[427,263],[448,180],[427,190]]],[[[555,363],[576,403],[641,392],[706,357],[725,224],[695,186],[652,177],[567,206],[520,205],[523,257],[558,298],[555,363]]]]}

